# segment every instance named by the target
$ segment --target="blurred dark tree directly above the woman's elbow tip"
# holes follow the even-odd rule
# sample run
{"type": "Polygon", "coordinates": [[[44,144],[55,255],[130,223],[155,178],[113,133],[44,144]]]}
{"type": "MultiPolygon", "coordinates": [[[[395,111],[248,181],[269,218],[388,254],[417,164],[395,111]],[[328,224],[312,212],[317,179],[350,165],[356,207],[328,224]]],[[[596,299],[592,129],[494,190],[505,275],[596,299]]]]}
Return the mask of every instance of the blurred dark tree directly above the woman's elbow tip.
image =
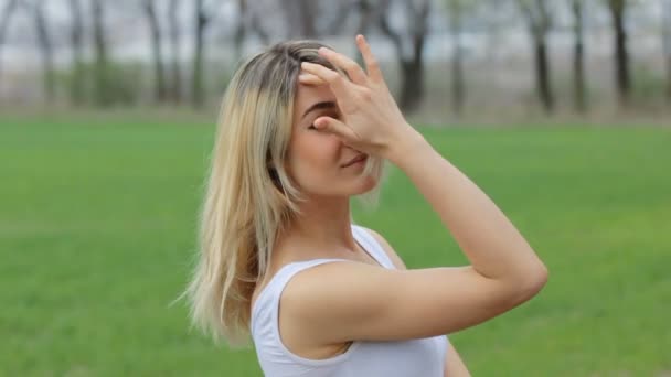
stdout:
{"type": "Polygon", "coordinates": [[[526,26],[533,43],[536,90],[545,112],[552,112],[554,110],[554,94],[547,52],[547,35],[551,28],[547,3],[546,0],[518,0],[518,4],[526,20],[526,26]]]}

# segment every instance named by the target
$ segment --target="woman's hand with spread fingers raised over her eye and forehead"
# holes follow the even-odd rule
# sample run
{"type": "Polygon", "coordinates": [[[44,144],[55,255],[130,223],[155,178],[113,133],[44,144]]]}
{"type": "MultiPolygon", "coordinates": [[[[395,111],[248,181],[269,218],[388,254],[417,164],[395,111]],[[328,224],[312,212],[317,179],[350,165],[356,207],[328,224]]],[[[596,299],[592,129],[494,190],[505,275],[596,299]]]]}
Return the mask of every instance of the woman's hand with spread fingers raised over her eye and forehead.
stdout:
{"type": "Polygon", "coordinates": [[[397,144],[417,132],[401,114],[363,35],[356,35],[356,46],[368,74],[351,58],[321,47],[319,54],[347,72],[351,80],[322,65],[303,62],[301,67],[308,74],[301,74],[299,82],[329,85],[338,101],[341,119],[319,117],[317,129],[337,134],[359,151],[391,159],[397,144]]]}

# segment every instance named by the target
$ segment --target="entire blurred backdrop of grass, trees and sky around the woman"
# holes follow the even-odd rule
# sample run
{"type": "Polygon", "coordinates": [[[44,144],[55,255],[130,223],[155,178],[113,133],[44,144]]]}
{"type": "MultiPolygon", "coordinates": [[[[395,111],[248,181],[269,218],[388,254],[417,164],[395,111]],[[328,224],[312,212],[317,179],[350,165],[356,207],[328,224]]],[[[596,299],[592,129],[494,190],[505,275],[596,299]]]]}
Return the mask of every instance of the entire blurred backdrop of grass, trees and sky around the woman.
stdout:
{"type": "MultiPolygon", "coordinates": [[[[450,335],[473,375],[671,375],[671,0],[0,0],[0,376],[259,376],[169,305],[219,103],[271,43],[359,33],[550,268],[450,335]]],[[[467,262],[395,169],[353,206],[411,268],[467,262]]]]}

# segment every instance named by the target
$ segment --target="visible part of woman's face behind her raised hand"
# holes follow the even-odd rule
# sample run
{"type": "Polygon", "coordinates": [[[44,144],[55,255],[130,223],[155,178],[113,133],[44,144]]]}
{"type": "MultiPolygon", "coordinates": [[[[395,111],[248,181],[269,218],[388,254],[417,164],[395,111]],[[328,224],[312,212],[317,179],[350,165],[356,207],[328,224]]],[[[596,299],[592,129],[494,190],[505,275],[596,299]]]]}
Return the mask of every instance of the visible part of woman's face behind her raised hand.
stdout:
{"type": "Polygon", "coordinates": [[[375,180],[362,174],[365,161],[343,166],[361,152],[312,126],[321,116],[340,119],[333,93],[327,85],[298,85],[287,154],[296,184],[311,196],[351,196],[372,190],[375,180]]]}

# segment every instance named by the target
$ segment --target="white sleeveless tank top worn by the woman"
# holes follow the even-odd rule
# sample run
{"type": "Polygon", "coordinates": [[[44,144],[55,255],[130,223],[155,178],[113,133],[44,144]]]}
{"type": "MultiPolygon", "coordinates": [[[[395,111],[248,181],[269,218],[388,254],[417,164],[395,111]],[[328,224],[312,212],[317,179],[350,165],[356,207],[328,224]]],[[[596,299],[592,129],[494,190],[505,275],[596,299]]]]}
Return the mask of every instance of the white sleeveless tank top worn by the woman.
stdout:
{"type": "MultiPolygon", "coordinates": [[[[377,240],[352,224],[354,239],[384,268],[395,268],[377,240]]],[[[443,377],[448,341],[435,336],[409,341],[353,342],[348,351],[327,359],[309,359],[291,353],[278,330],[279,298],[298,272],[347,259],[312,259],[288,263],[264,287],[252,309],[251,332],[256,355],[268,377],[443,377]]]]}

